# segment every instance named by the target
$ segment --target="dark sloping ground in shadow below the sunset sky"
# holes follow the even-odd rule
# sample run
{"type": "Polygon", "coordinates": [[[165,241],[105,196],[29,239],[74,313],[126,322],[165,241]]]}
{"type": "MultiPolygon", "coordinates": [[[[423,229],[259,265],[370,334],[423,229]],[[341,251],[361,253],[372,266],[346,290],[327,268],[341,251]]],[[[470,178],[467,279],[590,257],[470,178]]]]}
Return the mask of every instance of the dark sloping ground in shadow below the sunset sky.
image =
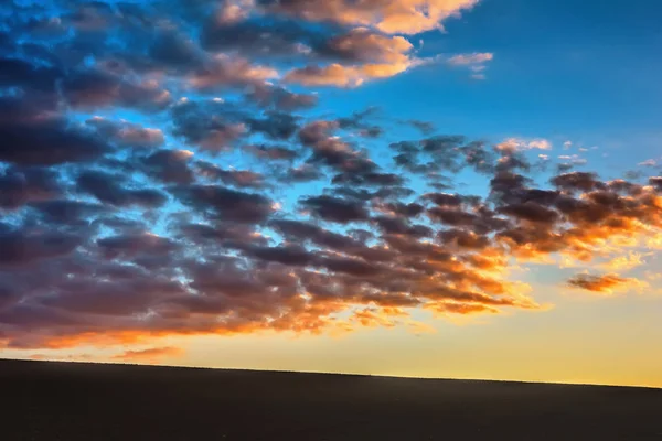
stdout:
{"type": "Polygon", "coordinates": [[[6,441],[662,441],[662,389],[0,361],[0,394],[6,441]]]}

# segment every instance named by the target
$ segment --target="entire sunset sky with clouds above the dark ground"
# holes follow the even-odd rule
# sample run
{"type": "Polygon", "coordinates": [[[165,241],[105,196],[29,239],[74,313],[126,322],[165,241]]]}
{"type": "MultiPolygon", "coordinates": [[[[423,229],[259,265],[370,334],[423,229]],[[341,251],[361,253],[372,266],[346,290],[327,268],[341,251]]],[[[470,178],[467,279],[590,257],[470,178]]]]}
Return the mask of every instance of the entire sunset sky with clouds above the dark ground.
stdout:
{"type": "Polygon", "coordinates": [[[662,387],[662,4],[0,6],[0,357],[662,387]]]}

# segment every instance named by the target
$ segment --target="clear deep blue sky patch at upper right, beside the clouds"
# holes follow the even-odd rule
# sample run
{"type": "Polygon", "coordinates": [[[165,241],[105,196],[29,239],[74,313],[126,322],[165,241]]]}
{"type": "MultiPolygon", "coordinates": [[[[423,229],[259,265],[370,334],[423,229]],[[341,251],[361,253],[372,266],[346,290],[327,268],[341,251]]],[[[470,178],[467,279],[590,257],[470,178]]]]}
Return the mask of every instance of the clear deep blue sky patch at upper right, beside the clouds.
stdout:
{"type": "Polygon", "coordinates": [[[428,66],[352,90],[351,101],[334,92],[333,104],[378,98],[444,130],[567,139],[634,166],[660,148],[661,15],[654,2],[488,0],[447,33],[420,35],[426,54],[494,53],[487,80],[428,66]]]}

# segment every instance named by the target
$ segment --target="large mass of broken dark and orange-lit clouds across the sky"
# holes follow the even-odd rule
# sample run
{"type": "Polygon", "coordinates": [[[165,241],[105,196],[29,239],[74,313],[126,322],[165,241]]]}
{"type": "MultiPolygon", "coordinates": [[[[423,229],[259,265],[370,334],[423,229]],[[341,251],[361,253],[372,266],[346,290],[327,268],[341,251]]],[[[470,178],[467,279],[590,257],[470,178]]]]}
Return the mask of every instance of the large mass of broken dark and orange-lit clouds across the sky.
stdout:
{"type": "Polygon", "coordinates": [[[484,75],[491,53],[410,40],[476,1],[49,4],[13,8],[1,43],[0,347],[151,361],[158,337],[541,310],[514,267],[599,268],[616,292],[659,247],[659,176],[552,154],[541,174],[548,140],[318,107],[308,86],[484,75]]]}

